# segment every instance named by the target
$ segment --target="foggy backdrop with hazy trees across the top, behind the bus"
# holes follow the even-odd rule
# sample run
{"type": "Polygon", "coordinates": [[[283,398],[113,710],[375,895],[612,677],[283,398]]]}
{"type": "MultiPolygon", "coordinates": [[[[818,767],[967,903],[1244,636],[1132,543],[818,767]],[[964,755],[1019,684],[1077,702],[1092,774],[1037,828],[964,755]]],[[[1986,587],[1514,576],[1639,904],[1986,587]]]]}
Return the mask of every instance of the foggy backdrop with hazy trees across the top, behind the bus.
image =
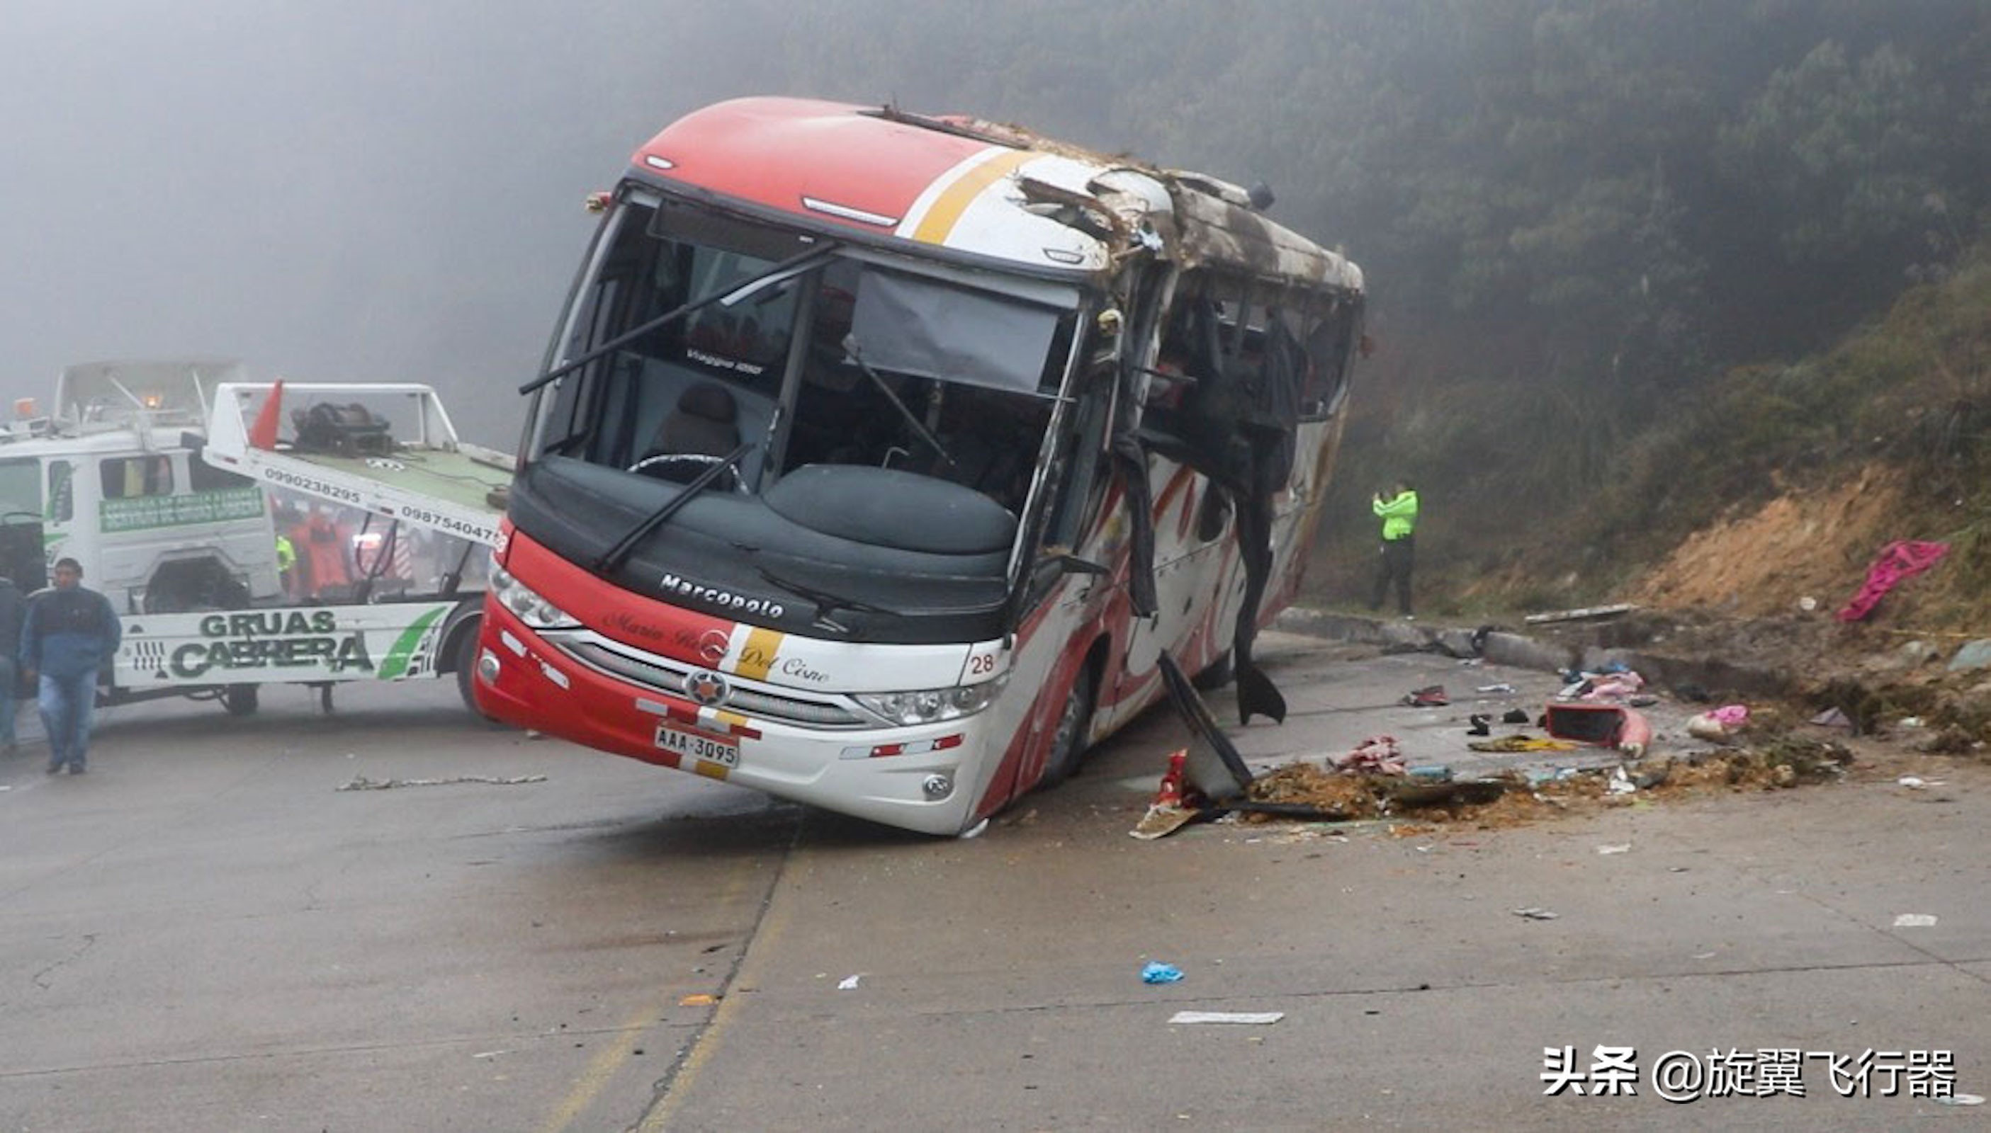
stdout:
{"type": "Polygon", "coordinates": [[[0,392],[237,356],[426,380],[512,446],[585,195],[697,106],[798,94],[1268,179],[1364,265],[1376,392],[1647,412],[1959,263],[1987,76],[1983,0],[12,0],[0,392]]]}

